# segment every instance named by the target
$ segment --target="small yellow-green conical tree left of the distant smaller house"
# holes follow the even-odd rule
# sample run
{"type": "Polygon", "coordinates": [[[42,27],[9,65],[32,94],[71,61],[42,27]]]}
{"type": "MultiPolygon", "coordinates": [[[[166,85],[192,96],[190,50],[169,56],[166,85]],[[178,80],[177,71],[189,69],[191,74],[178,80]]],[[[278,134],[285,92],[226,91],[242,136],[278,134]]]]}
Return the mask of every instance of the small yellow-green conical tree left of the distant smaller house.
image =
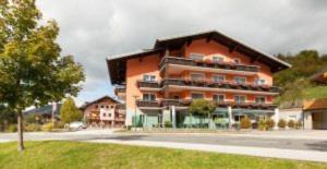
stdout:
{"type": "Polygon", "coordinates": [[[82,112],[76,108],[75,101],[72,97],[66,98],[60,109],[61,121],[71,123],[73,121],[82,120],[82,112]]]}

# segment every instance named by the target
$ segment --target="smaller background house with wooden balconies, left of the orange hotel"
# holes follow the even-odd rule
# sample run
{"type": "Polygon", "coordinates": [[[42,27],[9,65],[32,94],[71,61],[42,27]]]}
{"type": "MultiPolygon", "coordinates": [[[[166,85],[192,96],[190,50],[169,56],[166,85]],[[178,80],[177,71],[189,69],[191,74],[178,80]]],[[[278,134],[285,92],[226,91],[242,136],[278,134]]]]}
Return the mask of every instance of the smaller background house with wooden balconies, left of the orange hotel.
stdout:
{"type": "Polygon", "coordinates": [[[110,128],[124,125],[124,105],[109,96],[85,102],[80,109],[84,112],[84,119],[88,125],[110,128]]]}

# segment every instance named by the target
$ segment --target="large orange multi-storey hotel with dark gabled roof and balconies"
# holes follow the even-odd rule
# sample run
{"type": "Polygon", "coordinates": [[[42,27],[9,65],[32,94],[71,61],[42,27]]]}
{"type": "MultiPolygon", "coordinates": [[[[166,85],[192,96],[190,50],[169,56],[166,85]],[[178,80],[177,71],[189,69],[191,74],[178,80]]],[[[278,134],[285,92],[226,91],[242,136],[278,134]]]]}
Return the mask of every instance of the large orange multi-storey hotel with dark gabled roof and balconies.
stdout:
{"type": "Polygon", "coordinates": [[[143,128],[278,119],[272,74],[291,67],[216,31],[160,38],[153,49],[110,56],[107,64],[116,94],[126,102],[125,124],[143,128]],[[189,113],[197,98],[215,102],[213,119],[189,113]]]}

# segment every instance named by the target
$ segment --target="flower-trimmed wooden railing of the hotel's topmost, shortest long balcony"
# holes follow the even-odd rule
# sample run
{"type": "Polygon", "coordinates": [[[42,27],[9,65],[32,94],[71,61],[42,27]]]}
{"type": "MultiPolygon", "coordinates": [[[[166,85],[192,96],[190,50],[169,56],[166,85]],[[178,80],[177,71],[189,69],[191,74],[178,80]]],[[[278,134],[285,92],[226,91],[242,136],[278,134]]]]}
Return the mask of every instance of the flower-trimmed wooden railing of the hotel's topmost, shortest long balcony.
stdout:
{"type": "Polygon", "coordinates": [[[231,62],[215,62],[211,60],[195,61],[187,58],[177,58],[177,57],[165,57],[159,63],[160,70],[167,64],[181,64],[191,67],[202,67],[202,68],[213,68],[213,69],[225,69],[234,71],[246,71],[246,72],[258,72],[257,65],[245,65],[231,62]]]}

